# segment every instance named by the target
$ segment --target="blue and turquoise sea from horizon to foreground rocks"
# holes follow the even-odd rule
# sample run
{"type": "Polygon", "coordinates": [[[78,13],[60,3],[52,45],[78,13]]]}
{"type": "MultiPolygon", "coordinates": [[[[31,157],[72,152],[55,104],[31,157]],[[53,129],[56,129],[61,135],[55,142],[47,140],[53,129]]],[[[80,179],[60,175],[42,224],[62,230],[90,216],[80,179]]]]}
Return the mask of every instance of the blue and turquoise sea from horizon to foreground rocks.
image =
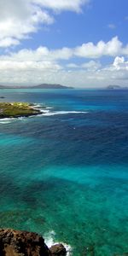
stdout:
{"type": "Polygon", "coordinates": [[[0,90],[42,116],[0,120],[0,227],[73,255],[128,252],[128,90],[0,90]],[[42,107],[41,107],[42,108],[42,107]]]}

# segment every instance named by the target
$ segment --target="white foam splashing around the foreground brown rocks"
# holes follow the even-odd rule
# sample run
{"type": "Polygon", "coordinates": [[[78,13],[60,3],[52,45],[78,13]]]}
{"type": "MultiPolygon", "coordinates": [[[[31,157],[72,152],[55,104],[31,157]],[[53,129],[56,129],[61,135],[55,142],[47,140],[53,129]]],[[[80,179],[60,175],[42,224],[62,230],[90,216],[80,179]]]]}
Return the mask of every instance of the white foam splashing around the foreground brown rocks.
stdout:
{"type": "Polygon", "coordinates": [[[44,241],[48,247],[51,247],[58,243],[61,243],[67,250],[67,256],[71,256],[73,253],[73,248],[70,245],[68,245],[67,243],[64,243],[62,241],[55,241],[55,231],[54,230],[51,230],[44,235],[44,241]]]}

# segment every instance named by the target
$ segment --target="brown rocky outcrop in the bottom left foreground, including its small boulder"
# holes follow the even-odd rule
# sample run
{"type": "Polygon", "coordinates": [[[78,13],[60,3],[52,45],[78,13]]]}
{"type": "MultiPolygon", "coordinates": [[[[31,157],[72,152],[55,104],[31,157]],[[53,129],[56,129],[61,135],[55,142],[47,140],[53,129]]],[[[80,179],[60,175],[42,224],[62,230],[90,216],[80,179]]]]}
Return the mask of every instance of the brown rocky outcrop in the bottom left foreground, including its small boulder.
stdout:
{"type": "Polygon", "coordinates": [[[0,256],[63,256],[66,249],[62,244],[48,248],[44,238],[37,233],[0,230],[0,256]]]}

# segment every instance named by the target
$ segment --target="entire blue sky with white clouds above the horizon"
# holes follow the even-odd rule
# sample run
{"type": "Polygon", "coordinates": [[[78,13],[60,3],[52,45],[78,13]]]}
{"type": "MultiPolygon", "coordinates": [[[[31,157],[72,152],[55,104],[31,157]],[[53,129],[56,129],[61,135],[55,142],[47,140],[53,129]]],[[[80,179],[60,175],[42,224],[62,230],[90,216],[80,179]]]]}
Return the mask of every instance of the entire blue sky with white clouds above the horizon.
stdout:
{"type": "Polygon", "coordinates": [[[128,85],[128,0],[0,0],[0,84],[128,85]]]}

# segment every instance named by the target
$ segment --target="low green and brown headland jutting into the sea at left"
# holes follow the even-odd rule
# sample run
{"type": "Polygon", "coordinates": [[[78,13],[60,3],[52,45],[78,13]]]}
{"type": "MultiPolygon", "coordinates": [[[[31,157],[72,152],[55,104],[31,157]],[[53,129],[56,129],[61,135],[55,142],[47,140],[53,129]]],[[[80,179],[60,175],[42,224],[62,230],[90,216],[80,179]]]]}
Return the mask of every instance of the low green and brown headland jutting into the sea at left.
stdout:
{"type": "Polygon", "coordinates": [[[0,102],[0,119],[28,117],[42,113],[34,104],[25,102],[0,102]]]}

